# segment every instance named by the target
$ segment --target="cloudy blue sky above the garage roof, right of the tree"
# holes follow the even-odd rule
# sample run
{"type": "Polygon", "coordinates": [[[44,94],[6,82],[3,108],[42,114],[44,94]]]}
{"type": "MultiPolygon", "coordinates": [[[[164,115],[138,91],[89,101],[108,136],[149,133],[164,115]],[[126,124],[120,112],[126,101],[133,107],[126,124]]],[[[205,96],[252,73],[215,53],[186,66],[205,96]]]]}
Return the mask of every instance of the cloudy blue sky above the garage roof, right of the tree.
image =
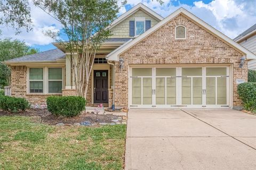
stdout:
{"type": "Polygon", "coordinates": [[[156,0],[128,0],[127,4],[134,6],[140,2],[163,17],[179,7],[186,8],[230,38],[235,38],[256,23],[255,0],[213,0],[208,4],[195,1],[193,6],[182,4],[178,0],[164,0],[162,6],[156,0]],[[173,2],[179,5],[173,5],[173,2]]]}

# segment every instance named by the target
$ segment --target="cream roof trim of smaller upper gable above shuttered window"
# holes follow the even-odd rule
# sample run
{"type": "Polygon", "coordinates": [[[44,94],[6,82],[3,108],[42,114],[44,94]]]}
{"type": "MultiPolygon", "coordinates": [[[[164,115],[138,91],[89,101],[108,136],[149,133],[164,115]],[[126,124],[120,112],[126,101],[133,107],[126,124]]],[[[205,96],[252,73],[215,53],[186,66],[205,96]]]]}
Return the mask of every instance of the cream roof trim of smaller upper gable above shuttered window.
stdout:
{"type": "Polygon", "coordinates": [[[134,14],[139,10],[145,12],[146,14],[150,15],[151,17],[153,17],[158,21],[162,21],[164,19],[161,15],[157,14],[155,11],[151,10],[149,7],[143,5],[142,3],[139,3],[135,5],[133,8],[131,8],[129,11],[119,16],[115,21],[113,21],[113,23],[111,23],[111,25],[109,26],[109,29],[115,27],[118,23],[121,23],[122,21],[124,21],[129,16],[131,16],[132,14],[134,14]]]}

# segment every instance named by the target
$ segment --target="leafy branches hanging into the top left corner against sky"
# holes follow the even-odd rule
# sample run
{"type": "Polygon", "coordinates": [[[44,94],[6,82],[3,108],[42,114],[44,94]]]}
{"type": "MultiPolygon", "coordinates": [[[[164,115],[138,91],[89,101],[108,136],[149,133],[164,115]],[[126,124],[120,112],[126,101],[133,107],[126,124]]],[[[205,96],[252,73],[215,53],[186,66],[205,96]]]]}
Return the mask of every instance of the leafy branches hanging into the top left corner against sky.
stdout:
{"type": "Polygon", "coordinates": [[[0,25],[15,29],[17,34],[21,32],[21,28],[27,31],[32,29],[29,0],[0,1],[0,16],[0,25]]]}

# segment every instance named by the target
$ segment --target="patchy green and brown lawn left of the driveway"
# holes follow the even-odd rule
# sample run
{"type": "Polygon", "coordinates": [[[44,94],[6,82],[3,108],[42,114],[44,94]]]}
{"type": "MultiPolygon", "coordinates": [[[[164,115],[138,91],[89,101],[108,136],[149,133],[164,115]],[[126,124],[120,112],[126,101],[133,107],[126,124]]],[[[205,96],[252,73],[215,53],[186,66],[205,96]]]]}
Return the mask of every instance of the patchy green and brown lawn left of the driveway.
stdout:
{"type": "Polygon", "coordinates": [[[0,116],[0,169],[122,169],[125,125],[50,126],[0,116]]]}

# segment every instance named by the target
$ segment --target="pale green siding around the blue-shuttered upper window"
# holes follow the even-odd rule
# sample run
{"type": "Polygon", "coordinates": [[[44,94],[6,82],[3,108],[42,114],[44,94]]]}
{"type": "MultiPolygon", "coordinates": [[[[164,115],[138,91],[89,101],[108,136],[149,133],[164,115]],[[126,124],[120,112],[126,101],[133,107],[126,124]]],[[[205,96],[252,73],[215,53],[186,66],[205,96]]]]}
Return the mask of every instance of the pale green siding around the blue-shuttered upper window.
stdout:
{"type": "MultiPolygon", "coordinates": [[[[134,20],[135,18],[145,18],[146,20],[151,21],[151,27],[153,27],[155,24],[158,23],[156,19],[151,17],[150,15],[146,14],[142,10],[139,10],[126,18],[124,21],[118,23],[115,25],[115,27],[111,28],[111,32],[113,35],[111,35],[109,38],[131,38],[130,37],[130,28],[129,28],[129,21],[134,20]]],[[[132,37],[133,38],[133,37],[132,37]]]]}

